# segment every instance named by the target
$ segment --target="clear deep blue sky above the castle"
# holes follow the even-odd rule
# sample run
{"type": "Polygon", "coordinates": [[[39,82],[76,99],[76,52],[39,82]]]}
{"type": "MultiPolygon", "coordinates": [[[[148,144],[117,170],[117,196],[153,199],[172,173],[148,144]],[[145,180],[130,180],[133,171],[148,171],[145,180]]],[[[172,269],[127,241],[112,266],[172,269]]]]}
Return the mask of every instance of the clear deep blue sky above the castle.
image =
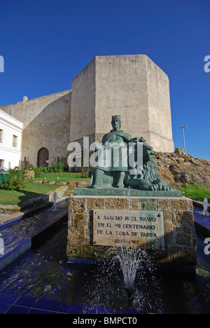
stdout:
{"type": "Polygon", "coordinates": [[[169,76],[174,146],[187,125],[186,152],[210,160],[209,0],[0,0],[0,104],[70,89],[96,55],[133,54],[169,76]]]}

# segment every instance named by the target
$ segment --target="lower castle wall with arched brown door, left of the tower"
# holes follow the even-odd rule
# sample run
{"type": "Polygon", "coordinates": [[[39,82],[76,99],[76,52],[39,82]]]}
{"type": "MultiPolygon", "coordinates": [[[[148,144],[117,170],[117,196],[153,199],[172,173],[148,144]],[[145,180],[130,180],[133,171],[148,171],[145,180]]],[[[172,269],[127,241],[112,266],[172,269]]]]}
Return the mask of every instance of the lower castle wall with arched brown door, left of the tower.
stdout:
{"type": "Polygon", "coordinates": [[[38,150],[49,150],[49,165],[57,156],[66,162],[69,144],[71,90],[32,100],[24,98],[18,104],[0,106],[0,109],[23,122],[21,163],[36,167],[38,150]]]}

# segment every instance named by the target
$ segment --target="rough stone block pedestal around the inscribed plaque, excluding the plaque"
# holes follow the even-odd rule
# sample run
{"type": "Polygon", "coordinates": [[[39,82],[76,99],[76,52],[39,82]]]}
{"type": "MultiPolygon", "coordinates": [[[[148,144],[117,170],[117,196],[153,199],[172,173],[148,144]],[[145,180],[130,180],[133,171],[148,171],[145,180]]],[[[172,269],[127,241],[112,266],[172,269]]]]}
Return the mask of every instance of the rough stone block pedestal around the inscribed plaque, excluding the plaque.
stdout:
{"type": "MultiPolygon", "coordinates": [[[[72,196],[69,198],[67,256],[95,259],[106,246],[94,245],[94,210],[103,212],[160,212],[164,228],[163,250],[151,249],[154,263],[179,266],[183,271],[196,264],[193,201],[183,197],[72,196]]],[[[95,211],[97,212],[97,211],[95,211]]],[[[95,219],[95,218],[94,218],[95,219]]],[[[104,238],[106,235],[104,233],[104,238]]]]}

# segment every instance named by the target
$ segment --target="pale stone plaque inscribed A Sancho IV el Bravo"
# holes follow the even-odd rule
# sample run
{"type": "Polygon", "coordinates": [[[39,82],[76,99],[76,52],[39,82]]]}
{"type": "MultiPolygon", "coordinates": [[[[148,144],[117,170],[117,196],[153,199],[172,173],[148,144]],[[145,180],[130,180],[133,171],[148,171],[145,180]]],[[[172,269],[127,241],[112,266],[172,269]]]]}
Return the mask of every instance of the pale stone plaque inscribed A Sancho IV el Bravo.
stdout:
{"type": "Polygon", "coordinates": [[[93,211],[93,245],[165,250],[162,212],[93,211]]]}

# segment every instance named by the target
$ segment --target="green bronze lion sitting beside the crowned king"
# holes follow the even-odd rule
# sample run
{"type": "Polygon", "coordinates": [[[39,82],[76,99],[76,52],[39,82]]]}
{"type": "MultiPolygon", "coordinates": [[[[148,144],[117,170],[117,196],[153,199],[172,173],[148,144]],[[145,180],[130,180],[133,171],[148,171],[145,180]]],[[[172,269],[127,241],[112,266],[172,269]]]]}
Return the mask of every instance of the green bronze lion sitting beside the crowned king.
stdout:
{"type": "Polygon", "coordinates": [[[139,142],[143,142],[143,165],[141,167],[137,166],[134,168],[130,168],[130,172],[134,172],[134,174],[128,176],[126,185],[131,186],[133,189],[140,190],[171,190],[171,188],[167,186],[167,183],[164,180],[160,179],[155,160],[153,159],[153,148],[146,143],[146,140],[143,137],[134,138],[132,139],[132,142],[136,143],[134,147],[135,153],[137,152],[139,142]]]}

